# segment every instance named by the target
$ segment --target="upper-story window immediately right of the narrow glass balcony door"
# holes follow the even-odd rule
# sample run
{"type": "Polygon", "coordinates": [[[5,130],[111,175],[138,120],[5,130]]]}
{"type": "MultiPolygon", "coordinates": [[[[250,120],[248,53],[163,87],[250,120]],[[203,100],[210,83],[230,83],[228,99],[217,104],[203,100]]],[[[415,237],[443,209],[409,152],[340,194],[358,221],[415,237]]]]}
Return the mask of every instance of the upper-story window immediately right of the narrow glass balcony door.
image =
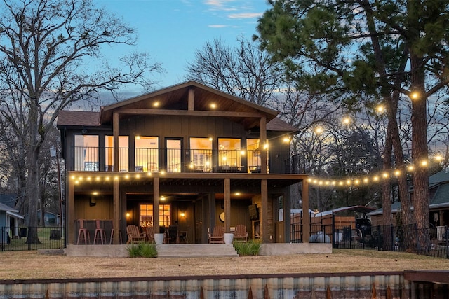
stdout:
{"type": "Polygon", "coordinates": [[[212,139],[191,137],[189,146],[189,167],[196,172],[210,172],[212,169],[212,139]]]}

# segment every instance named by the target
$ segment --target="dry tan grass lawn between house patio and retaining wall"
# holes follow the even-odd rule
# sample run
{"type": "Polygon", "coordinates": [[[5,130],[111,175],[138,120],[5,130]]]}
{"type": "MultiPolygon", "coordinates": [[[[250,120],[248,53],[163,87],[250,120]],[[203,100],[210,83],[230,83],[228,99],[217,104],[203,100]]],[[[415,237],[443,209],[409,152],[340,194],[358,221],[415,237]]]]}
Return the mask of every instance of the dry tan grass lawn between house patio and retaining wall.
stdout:
{"type": "Polygon", "coordinates": [[[330,254],[238,258],[80,258],[6,251],[0,253],[0,265],[0,279],[64,279],[448,270],[449,259],[349,249],[335,249],[330,254]]]}

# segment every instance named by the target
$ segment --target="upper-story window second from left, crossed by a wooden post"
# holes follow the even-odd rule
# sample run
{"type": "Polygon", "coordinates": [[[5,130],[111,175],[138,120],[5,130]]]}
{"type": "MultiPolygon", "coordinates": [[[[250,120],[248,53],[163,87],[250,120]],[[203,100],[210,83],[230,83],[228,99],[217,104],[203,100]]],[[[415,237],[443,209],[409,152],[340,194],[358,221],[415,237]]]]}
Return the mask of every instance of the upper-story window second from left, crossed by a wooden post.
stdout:
{"type": "MultiPolygon", "coordinates": [[[[119,168],[120,172],[129,170],[128,136],[119,136],[119,168]]],[[[114,136],[105,136],[105,169],[117,171],[114,168],[114,136]]]]}

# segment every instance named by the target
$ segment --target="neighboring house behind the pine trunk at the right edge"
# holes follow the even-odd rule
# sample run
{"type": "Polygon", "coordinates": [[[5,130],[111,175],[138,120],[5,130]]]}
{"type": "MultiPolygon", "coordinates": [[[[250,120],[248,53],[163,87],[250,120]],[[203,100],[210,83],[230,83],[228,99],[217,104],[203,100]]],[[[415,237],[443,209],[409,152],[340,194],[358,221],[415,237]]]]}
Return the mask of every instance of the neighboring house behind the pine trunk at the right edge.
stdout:
{"type": "MultiPolygon", "coordinates": [[[[391,204],[394,225],[396,225],[398,209],[401,209],[401,202],[391,204]]],[[[371,217],[373,225],[383,225],[382,209],[377,209],[367,215],[371,217]]],[[[449,169],[429,176],[429,221],[431,228],[449,225],[449,169]]]]}

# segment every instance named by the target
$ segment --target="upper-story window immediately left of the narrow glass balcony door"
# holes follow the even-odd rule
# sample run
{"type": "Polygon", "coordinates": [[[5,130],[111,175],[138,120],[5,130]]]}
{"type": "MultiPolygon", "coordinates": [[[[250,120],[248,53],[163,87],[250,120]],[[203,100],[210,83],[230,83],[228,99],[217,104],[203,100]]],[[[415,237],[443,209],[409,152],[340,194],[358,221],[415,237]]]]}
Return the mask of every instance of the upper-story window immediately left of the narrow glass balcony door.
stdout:
{"type": "Polygon", "coordinates": [[[135,171],[158,172],[159,137],[135,137],[135,171]]]}

